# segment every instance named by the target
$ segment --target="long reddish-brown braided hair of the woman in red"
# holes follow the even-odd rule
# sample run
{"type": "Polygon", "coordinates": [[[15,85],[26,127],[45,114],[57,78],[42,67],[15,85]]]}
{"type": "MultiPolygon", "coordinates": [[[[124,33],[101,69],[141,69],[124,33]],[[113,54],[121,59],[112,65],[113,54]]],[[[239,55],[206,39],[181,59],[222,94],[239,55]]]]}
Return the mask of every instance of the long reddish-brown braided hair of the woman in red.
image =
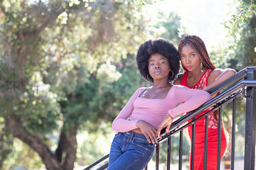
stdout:
{"type": "MultiPolygon", "coordinates": [[[[199,58],[204,67],[208,69],[215,69],[216,67],[210,62],[210,57],[206,50],[206,45],[204,44],[203,40],[196,35],[186,35],[178,45],[178,54],[181,55],[181,50],[185,45],[190,45],[193,50],[198,52],[199,58]]],[[[186,67],[181,63],[181,66],[184,71],[188,71],[186,67]]]]}

